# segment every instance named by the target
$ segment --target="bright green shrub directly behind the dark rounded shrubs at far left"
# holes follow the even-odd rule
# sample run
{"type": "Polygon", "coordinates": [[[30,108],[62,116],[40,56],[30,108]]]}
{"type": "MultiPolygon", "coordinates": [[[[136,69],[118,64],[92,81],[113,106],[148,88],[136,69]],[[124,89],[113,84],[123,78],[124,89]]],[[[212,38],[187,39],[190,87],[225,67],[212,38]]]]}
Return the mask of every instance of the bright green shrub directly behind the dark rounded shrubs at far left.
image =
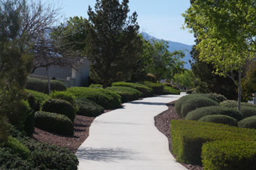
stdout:
{"type": "Polygon", "coordinates": [[[50,96],[39,91],[26,90],[29,95],[29,106],[36,112],[41,108],[45,100],[49,100],[50,96]]]}

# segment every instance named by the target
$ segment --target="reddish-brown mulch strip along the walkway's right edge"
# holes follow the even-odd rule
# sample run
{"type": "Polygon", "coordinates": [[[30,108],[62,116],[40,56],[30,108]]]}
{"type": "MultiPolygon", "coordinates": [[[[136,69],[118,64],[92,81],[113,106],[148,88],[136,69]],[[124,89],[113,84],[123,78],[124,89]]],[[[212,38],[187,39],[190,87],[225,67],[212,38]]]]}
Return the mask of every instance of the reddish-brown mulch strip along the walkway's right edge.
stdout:
{"type": "MultiPolygon", "coordinates": [[[[163,113],[160,113],[160,115],[157,115],[156,117],[154,117],[155,126],[161,133],[163,133],[167,137],[169,141],[170,151],[172,150],[172,136],[170,133],[170,130],[171,130],[170,121],[174,119],[181,119],[175,113],[174,103],[175,102],[168,103],[167,106],[169,107],[169,109],[163,113]]],[[[173,155],[173,157],[175,157],[175,155],[173,155]]],[[[186,163],[181,163],[181,164],[190,170],[203,170],[203,167],[201,166],[193,166],[186,163]]]]}

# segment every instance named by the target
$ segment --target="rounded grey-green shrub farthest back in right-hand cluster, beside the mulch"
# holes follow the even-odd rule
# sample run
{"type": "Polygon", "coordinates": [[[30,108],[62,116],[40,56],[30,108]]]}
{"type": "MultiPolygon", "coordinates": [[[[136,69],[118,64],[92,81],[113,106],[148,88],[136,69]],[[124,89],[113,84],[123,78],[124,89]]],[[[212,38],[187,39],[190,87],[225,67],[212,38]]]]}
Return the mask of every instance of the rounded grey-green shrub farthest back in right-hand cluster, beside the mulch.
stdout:
{"type": "Polygon", "coordinates": [[[203,96],[191,96],[187,98],[181,105],[182,118],[186,117],[188,112],[191,112],[200,107],[219,106],[218,102],[203,96]]]}

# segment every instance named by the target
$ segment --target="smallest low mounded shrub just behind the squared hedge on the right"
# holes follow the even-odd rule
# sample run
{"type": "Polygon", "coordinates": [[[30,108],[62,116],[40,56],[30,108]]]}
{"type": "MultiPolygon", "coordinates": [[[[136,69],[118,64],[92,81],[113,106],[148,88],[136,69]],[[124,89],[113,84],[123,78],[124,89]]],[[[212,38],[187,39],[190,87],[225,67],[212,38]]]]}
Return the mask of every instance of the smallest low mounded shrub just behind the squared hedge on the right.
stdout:
{"type": "Polygon", "coordinates": [[[215,124],[227,124],[230,126],[237,125],[236,119],[227,115],[206,115],[203,118],[200,118],[198,121],[212,122],[215,124]]]}

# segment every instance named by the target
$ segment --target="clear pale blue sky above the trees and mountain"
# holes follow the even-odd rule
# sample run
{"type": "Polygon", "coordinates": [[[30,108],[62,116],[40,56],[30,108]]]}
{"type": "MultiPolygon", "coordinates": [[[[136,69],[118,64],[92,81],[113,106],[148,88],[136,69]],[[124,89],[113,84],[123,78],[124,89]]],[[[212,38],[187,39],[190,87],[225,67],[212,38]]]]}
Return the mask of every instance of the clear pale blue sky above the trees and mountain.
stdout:
{"type": "MultiPolygon", "coordinates": [[[[41,0],[56,3],[62,7],[66,18],[70,16],[84,16],[87,18],[87,9],[94,8],[95,0],[41,0]]],[[[130,0],[130,11],[138,13],[140,31],[151,36],[172,40],[188,45],[194,44],[193,34],[182,30],[184,18],[181,13],[190,6],[190,0],[130,0]]]]}

